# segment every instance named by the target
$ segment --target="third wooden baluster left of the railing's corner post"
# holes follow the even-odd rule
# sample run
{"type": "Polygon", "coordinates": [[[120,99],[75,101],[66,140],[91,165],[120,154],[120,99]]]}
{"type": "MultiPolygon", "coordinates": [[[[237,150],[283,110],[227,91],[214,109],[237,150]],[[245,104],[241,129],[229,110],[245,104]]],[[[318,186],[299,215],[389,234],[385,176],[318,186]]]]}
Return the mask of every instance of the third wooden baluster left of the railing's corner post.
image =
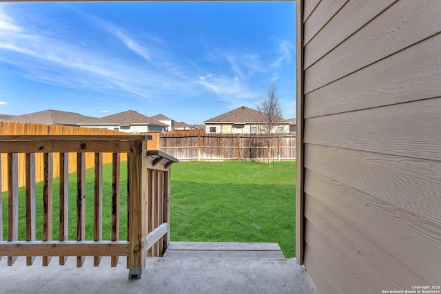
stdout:
{"type": "MultiPolygon", "coordinates": [[[[76,154],[76,240],[85,240],[85,153],[76,154]]],[[[85,257],[76,257],[76,266],[83,266],[85,257]]]]}

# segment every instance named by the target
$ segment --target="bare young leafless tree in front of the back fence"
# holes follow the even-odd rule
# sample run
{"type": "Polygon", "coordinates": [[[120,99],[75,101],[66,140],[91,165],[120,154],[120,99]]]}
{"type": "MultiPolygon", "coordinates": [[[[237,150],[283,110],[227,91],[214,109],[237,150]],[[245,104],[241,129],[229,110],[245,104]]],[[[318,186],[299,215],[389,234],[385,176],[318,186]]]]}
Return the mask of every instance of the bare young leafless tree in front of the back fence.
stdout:
{"type": "Polygon", "coordinates": [[[258,112],[257,122],[260,127],[260,132],[265,136],[265,145],[268,148],[268,166],[271,166],[269,160],[269,148],[271,147],[271,133],[277,132],[277,127],[283,121],[285,110],[280,105],[278,96],[278,85],[276,83],[269,83],[265,92],[265,97],[256,103],[258,112]]]}

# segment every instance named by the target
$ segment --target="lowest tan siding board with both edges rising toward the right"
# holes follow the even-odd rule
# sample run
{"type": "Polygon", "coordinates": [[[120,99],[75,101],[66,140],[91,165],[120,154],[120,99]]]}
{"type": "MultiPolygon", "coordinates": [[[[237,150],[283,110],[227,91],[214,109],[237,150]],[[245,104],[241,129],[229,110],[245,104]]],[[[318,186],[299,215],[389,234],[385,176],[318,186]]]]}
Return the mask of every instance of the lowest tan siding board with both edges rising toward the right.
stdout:
{"type": "Polygon", "coordinates": [[[305,118],[440,97],[440,48],[438,34],[306,94],[305,118]]]}

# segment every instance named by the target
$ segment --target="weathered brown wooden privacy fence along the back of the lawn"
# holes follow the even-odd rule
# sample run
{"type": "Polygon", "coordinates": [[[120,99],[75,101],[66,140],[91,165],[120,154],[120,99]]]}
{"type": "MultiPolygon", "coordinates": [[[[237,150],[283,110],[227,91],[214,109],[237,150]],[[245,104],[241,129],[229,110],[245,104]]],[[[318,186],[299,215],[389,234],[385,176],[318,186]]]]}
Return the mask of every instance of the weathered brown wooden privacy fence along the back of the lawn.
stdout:
{"type": "Polygon", "coordinates": [[[295,160],[296,133],[163,134],[161,151],[179,160],[295,160]]]}

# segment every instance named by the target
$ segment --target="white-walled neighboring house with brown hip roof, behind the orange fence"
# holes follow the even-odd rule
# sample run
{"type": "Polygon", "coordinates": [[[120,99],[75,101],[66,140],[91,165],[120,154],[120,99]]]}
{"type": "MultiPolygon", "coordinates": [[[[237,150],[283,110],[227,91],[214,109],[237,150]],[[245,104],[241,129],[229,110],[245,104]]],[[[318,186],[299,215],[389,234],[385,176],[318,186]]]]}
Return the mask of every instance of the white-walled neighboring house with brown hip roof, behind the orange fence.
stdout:
{"type": "Polygon", "coordinates": [[[88,123],[79,123],[81,127],[101,127],[125,133],[165,132],[168,125],[158,120],[127,110],[102,118],[95,118],[88,123]]]}

